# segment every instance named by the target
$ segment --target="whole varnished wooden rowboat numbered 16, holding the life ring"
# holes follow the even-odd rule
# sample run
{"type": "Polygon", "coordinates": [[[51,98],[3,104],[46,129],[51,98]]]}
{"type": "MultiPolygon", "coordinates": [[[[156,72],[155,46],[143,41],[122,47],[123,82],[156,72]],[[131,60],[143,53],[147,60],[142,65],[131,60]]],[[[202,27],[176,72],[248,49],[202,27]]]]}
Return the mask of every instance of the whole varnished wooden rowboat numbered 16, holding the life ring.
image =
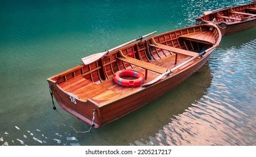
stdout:
{"type": "Polygon", "coordinates": [[[85,64],[47,81],[63,109],[98,128],[179,85],[207,62],[220,41],[221,31],[214,24],[186,27],[118,47],[100,58],[83,58],[85,64]],[[143,73],[144,84],[117,85],[113,76],[124,69],[143,73]]]}

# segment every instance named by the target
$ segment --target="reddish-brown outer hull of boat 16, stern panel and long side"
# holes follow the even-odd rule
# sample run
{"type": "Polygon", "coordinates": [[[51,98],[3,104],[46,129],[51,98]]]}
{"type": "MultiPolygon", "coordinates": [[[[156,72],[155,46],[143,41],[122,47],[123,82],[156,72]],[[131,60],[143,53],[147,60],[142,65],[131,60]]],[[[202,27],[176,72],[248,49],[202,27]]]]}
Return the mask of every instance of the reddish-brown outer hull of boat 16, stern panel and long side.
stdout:
{"type": "Polygon", "coordinates": [[[68,113],[77,117],[86,124],[92,124],[92,120],[90,119],[93,119],[93,110],[95,110],[94,124],[95,128],[98,128],[104,124],[114,121],[115,119],[121,118],[126,114],[129,114],[133,110],[136,110],[150,101],[157,99],[159,96],[162,96],[167,91],[181,84],[181,82],[193,75],[197,70],[199,70],[200,67],[204,65],[205,62],[207,62],[213,50],[206,53],[204,57],[198,59],[188,67],[182,68],[181,71],[166,77],[156,84],[145,87],[138,93],[118,99],[112,103],[103,105],[102,107],[97,106],[97,104],[90,99],[88,99],[88,101],[76,99],[76,104],[74,104],[71,101],[70,94],[63,91],[61,87],[55,84],[53,81],[48,80],[48,82],[52,88],[54,98],[57,100],[58,104],[60,104],[61,108],[65,109],[68,113]]]}

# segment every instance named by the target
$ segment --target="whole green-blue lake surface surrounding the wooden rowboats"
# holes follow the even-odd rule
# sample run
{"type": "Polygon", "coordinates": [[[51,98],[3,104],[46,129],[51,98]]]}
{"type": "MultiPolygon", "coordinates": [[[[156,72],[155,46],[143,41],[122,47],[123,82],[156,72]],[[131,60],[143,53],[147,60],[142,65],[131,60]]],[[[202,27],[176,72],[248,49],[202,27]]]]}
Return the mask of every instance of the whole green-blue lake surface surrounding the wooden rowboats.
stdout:
{"type": "Polygon", "coordinates": [[[223,37],[174,90],[89,133],[52,109],[46,81],[89,54],[249,2],[2,0],[0,145],[256,145],[256,27],[223,37]]]}

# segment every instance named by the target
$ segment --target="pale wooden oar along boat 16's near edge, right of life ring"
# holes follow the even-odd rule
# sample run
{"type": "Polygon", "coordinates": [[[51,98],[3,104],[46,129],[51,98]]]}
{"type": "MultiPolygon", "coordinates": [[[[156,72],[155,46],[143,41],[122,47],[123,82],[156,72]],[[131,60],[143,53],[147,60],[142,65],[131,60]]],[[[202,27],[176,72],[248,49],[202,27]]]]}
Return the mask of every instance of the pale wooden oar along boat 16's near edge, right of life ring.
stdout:
{"type": "Polygon", "coordinates": [[[154,84],[154,83],[157,82],[158,80],[162,79],[164,76],[170,75],[170,73],[172,73],[173,71],[176,71],[177,69],[179,69],[180,67],[184,66],[185,64],[188,64],[188,63],[190,63],[191,61],[194,61],[194,59],[196,59],[196,58],[198,58],[198,57],[204,56],[205,53],[207,53],[207,52],[209,52],[210,50],[216,48],[217,46],[218,46],[218,45],[214,45],[213,47],[211,47],[211,48],[209,48],[209,49],[207,49],[207,50],[205,50],[205,51],[203,51],[203,52],[201,52],[201,53],[198,53],[198,56],[192,57],[192,58],[188,59],[187,61],[182,62],[182,63],[179,64],[178,66],[172,68],[170,71],[167,71],[167,72],[165,72],[165,73],[159,75],[156,79],[154,79],[154,80],[152,80],[152,81],[149,81],[149,82],[147,82],[147,83],[145,83],[145,84],[143,84],[143,85],[141,85],[141,86],[148,86],[148,85],[154,84]]]}

